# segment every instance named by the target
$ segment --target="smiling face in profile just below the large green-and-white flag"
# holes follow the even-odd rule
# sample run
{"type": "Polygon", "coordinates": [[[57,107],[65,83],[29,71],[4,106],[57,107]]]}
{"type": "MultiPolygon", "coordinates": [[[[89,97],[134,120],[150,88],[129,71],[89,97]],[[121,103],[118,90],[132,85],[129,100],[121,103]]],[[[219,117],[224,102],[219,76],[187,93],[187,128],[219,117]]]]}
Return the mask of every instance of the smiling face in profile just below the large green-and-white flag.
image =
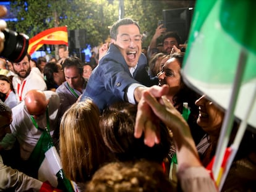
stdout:
{"type": "Polygon", "coordinates": [[[224,119],[224,112],[209,101],[205,95],[197,99],[195,104],[199,108],[197,124],[207,132],[219,130],[224,119]]]}

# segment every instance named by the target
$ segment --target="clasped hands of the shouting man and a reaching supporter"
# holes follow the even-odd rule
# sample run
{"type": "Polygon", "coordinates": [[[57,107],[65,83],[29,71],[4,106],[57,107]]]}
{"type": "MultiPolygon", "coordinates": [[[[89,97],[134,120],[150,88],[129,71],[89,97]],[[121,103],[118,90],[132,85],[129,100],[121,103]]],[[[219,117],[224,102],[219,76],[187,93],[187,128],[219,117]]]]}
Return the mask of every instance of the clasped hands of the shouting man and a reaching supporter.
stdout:
{"type": "Polygon", "coordinates": [[[160,120],[172,131],[187,130],[186,120],[166,98],[169,86],[151,86],[143,91],[138,104],[135,122],[135,138],[140,138],[144,133],[144,143],[148,146],[160,143],[160,120]]]}

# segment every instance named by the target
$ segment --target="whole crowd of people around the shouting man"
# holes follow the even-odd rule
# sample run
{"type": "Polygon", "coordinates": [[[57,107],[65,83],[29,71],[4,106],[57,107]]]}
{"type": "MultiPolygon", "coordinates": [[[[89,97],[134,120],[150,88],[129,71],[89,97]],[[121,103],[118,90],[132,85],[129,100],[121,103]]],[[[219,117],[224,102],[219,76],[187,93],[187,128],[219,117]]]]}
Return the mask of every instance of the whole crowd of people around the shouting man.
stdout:
{"type": "MultiPolygon", "coordinates": [[[[158,26],[143,54],[140,26],[125,18],[110,38],[92,64],[65,46],[59,61],[2,60],[0,191],[67,190],[41,176],[45,134],[74,191],[218,191],[206,167],[225,112],[184,83],[179,35],[158,26]]],[[[255,191],[255,169],[255,135],[246,131],[222,191],[255,191]]]]}

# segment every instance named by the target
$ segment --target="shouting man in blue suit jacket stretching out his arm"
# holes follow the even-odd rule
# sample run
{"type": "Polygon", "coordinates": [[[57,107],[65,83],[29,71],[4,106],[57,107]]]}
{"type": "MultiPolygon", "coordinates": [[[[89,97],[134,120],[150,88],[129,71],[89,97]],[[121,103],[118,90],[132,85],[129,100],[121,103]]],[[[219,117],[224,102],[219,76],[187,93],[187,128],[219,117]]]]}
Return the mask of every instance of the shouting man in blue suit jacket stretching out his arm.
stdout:
{"type": "Polygon", "coordinates": [[[145,86],[157,85],[147,73],[138,23],[121,19],[111,27],[110,37],[108,52],[93,70],[81,98],[91,98],[100,111],[117,101],[135,104],[145,86]]]}

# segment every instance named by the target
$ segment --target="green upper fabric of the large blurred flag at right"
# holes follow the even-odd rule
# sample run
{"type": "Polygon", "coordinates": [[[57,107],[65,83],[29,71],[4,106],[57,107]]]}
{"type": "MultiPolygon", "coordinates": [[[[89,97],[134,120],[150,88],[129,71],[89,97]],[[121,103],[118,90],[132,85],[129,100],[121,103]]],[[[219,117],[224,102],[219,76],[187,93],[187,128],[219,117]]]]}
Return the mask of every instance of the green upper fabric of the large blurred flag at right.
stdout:
{"type": "MultiPolygon", "coordinates": [[[[190,30],[187,49],[188,54],[186,54],[186,62],[184,65],[190,77],[202,81],[203,83],[210,83],[212,86],[226,86],[233,83],[241,47],[247,46],[254,50],[256,45],[254,22],[247,23],[245,16],[242,16],[247,12],[247,10],[243,10],[243,8],[249,7],[249,5],[248,2],[245,1],[246,3],[242,6],[242,2],[244,1],[231,2],[229,0],[223,1],[223,4],[221,1],[215,1],[214,4],[213,1],[197,2],[199,6],[194,10],[195,20],[190,30]],[[228,4],[228,2],[230,2],[230,4],[228,4]],[[206,7],[206,9],[210,11],[207,13],[202,7],[206,7]],[[237,10],[239,8],[241,9],[240,11],[237,10]],[[229,14],[228,11],[230,10],[226,9],[234,9],[235,12],[229,14]],[[223,15],[226,15],[226,19],[223,19],[223,15]],[[230,20],[227,20],[227,17],[230,20]],[[236,17],[242,18],[235,20],[236,17]],[[226,25],[227,23],[229,25],[226,25]],[[248,32],[244,33],[244,36],[242,36],[242,32],[244,31],[242,28],[245,27],[245,24],[242,23],[247,23],[249,28],[252,27],[250,31],[254,31],[254,35],[248,32]],[[231,33],[231,31],[233,33],[231,33]],[[252,40],[252,42],[250,40],[252,40]],[[250,41],[250,43],[248,43],[248,41],[250,41]],[[252,44],[253,42],[254,44],[252,44]]],[[[255,4],[255,2],[252,2],[252,4],[255,4]]],[[[252,11],[254,7],[250,8],[250,11],[252,11]]],[[[243,79],[244,82],[252,80],[252,78],[256,76],[256,55],[255,52],[252,53],[253,54],[249,54],[247,60],[243,79]]]]}

